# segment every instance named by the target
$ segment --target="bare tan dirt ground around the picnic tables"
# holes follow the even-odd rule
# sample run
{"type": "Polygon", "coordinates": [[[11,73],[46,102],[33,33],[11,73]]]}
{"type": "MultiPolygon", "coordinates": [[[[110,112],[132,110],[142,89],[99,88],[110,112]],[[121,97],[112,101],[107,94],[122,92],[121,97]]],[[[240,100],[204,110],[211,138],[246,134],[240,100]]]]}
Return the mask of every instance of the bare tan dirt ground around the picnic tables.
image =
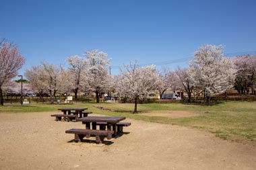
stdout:
{"type": "Polygon", "coordinates": [[[256,169],[256,146],[202,130],[127,119],[105,144],[75,143],[65,130],[84,125],[51,114],[0,114],[0,169],[256,169]]]}

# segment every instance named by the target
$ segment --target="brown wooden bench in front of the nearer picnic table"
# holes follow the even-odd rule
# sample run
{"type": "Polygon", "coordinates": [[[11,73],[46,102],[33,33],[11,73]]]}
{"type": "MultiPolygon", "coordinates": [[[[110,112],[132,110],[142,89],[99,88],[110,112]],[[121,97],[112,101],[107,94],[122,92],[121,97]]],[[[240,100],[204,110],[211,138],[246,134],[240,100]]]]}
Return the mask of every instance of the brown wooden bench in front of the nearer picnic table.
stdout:
{"type": "Polygon", "coordinates": [[[104,141],[104,137],[106,136],[107,139],[111,139],[112,134],[114,134],[114,131],[73,128],[70,130],[66,130],[66,133],[75,134],[75,142],[82,142],[84,136],[86,136],[86,138],[90,138],[91,135],[95,135],[96,144],[102,144],[102,142],[104,141]]]}

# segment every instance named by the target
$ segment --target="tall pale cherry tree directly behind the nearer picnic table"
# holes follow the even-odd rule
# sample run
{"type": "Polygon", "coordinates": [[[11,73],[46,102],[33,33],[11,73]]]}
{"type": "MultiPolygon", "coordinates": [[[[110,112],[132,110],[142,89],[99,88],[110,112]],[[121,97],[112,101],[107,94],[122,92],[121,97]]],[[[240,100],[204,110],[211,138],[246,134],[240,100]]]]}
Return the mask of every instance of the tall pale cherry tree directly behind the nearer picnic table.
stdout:
{"type": "Polygon", "coordinates": [[[86,56],[86,74],[84,75],[84,86],[96,93],[96,102],[100,102],[100,95],[109,90],[110,75],[108,66],[110,60],[108,54],[98,50],[89,50],[84,53],[86,56]]]}

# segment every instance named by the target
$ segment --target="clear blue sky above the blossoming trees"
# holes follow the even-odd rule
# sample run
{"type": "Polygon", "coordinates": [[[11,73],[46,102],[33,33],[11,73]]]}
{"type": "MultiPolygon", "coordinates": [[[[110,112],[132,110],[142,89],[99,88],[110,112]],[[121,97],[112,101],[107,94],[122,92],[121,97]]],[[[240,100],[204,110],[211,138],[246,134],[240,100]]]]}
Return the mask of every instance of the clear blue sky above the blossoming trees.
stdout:
{"type": "MultiPolygon", "coordinates": [[[[0,0],[0,13],[0,37],[26,58],[20,74],[40,61],[65,64],[92,49],[106,52],[113,66],[187,58],[202,44],[256,50],[253,0],[0,0]]],[[[168,66],[177,65],[186,62],[168,66]]]]}

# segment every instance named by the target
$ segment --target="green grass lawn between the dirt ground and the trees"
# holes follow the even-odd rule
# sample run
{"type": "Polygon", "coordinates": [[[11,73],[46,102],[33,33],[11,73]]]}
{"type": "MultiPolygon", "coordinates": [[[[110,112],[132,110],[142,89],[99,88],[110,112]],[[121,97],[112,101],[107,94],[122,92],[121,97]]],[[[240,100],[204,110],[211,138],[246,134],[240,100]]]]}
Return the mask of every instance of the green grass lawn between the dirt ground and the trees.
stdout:
{"type": "MultiPolygon", "coordinates": [[[[132,114],[130,103],[74,103],[72,105],[4,105],[0,113],[47,112],[57,111],[63,107],[86,107],[90,111],[107,116],[125,116],[135,120],[191,126],[214,133],[224,140],[237,142],[256,142],[256,103],[226,102],[217,105],[187,105],[183,103],[149,103],[138,105],[139,114],[132,114]],[[99,110],[95,106],[111,111],[99,110]],[[165,113],[186,111],[199,116],[186,118],[166,118],[160,116],[143,116],[141,113],[165,113]]],[[[57,111],[59,112],[59,111],[57,111]]]]}

